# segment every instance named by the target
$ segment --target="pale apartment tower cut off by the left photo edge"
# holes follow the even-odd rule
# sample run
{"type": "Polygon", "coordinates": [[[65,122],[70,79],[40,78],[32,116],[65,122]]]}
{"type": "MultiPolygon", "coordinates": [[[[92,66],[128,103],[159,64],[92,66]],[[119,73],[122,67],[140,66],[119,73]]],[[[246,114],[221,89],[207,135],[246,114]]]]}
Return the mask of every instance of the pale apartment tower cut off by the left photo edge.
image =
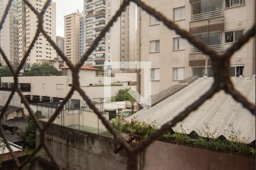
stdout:
{"type": "MultiPolygon", "coordinates": [[[[0,1],[0,17],[2,18],[3,13],[7,5],[7,0],[0,1]]],[[[0,45],[8,57],[9,61],[14,67],[19,64],[19,35],[18,35],[18,0],[14,0],[11,3],[9,13],[6,16],[3,28],[0,31],[0,45]]],[[[5,61],[0,54],[0,66],[6,65],[5,61]]]]}

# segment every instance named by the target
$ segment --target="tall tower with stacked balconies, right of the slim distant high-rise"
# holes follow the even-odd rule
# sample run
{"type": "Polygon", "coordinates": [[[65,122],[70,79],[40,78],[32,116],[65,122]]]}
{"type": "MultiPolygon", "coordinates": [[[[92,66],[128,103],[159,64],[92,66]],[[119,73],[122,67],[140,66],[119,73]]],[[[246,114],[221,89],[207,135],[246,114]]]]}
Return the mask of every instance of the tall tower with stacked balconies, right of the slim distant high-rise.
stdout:
{"type": "MultiPolygon", "coordinates": [[[[121,5],[122,0],[84,0],[85,51],[100,34],[121,5]]],[[[113,24],[96,50],[85,62],[102,66],[107,61],[135,61],[136,6],[131,4],[113,24]]]]}

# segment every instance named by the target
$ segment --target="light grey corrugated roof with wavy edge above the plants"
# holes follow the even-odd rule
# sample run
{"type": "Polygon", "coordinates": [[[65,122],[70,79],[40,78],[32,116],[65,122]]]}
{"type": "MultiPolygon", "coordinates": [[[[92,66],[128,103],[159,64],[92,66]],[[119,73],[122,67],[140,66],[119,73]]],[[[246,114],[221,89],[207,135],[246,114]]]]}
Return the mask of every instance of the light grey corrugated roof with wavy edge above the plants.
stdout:
{"type": "MultiPolygon", "coordinates": [[[[253,78],[232,78],[232,81],[238,91],[252,103],[255,103],[255,75],[253,78]]],[[[148,124],[156,121],[156,124],[160,127],[172,120],[193,101],[199,99],[201,95],[209,90],[212,83],[213,78],[199,78],[154,107],[135,113],[128,120],[133,118],[148,124]]],[[[231,140],[229,135],[233,128],[237,132],[238,142],[251,143],[255,141],[255,116],[243,108],[232,96],[225,94],[224,91],[218,92],[212,99],[201,105],[197,111],[189,114],[180,124],[187,134],[195,131],[198,135],[207,137],[204,132],[210,131],[213,138],[224,135],[226,139],[231,140]],[[215,129],[216,133],[214,133],[215,129]]],[[[177,124],[173,130],[181,132],[180,124],[177,124]]]]}

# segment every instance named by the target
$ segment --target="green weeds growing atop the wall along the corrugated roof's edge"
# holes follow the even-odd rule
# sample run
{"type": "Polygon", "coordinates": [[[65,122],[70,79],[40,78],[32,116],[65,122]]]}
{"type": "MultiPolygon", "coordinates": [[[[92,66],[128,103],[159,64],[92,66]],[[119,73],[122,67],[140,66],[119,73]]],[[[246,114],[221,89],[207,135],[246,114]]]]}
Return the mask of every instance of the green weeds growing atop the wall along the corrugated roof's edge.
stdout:
{"type": "MultiPolygon", "coordinates": [[[[122,121],[120,118],[113,118],[111,120],[112,126],[115,129],[122,131],[123,133],[131,134],[135,136],[135,139],[142,141],[148,137],[154,130],[156,130],[156,123],[152,122],[152,125],[146,124],[145,122],[139,122],[132,120],[131,122],[122,121]]],[[[176,131],[179,133],[171,133],[167,131],[161,137],[164,141],[169,141],[179,145],[191,145],[207,148],[208,150],[218,152],[229,152],[238,155],[255,155],[255,148],[250,147],[246,143],[237,142],[238,130],[233,128],[233,124],[229,124],[229,129],[226,129],[229,133],[230,141],[221,141],[220,139],[214,139],[214,134],[217,133],[217,129],[211,130],[207,123],[204,124],[205,128],[201,128],[200,134],[205,137],[190,138],[187,134],[183,125],[180,124],[176,131]]]]}

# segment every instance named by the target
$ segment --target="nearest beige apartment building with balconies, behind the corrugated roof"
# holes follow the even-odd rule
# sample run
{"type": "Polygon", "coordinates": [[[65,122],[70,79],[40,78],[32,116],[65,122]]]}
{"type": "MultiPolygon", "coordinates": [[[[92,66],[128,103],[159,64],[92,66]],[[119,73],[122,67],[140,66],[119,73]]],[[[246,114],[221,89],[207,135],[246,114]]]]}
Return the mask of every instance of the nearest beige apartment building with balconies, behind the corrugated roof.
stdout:
{"type": "MultiPolygon", "coordinates": [[[[219,53],[255,23],[255,1],[147,0],[146,3],[219,53]]],[[[152,95],[188,76],[204,75],[207,56],[144,11],[141,30],[141,61],[152,63],[152,95]]],[[[230,64],[231,76],[255,74],[255,37],[234,53],[230,64]]],[[[210,59],[207,75],[213,75],[210,59]]],[[[141,76],[143,94],[143,72],[141,76]]]]}

